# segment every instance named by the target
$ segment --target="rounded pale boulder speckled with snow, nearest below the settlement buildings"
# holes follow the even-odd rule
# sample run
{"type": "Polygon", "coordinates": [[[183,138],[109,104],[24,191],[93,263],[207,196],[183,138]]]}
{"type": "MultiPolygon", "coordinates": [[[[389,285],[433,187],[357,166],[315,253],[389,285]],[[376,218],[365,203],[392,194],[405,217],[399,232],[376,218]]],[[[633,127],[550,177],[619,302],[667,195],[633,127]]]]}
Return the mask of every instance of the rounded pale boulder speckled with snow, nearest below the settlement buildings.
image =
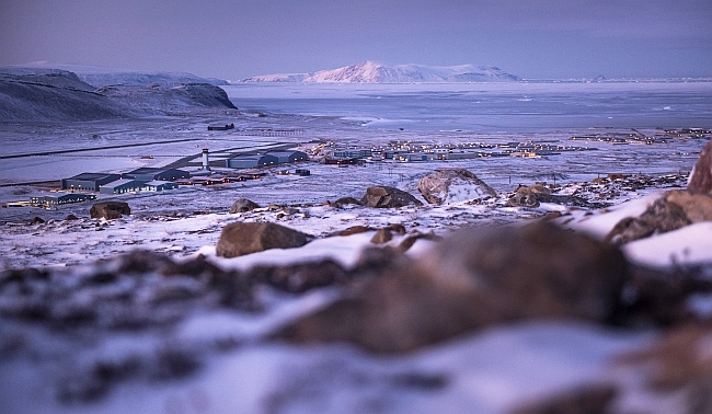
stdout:
{"type": "Polygon", "coordinates": [[[426,175],[417,189],[430,204],[448,204],[469,199],[496,197],[497,193],[473,173],[457,169],[426,175]]]}

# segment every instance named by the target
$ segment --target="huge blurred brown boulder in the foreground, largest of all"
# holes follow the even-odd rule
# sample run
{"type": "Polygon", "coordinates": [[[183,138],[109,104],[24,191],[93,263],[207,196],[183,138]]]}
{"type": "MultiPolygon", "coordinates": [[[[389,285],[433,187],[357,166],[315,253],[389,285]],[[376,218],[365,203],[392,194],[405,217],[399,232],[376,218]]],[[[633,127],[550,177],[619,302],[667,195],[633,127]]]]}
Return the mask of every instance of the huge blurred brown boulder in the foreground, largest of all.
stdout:
{"type": "Polygon", "coordinates": [[[418,261],[398,263],[275,337],[393,353],[502,322],[608,322],[627,272],[618,248],[547,222],[463,230],[418,261]]]}

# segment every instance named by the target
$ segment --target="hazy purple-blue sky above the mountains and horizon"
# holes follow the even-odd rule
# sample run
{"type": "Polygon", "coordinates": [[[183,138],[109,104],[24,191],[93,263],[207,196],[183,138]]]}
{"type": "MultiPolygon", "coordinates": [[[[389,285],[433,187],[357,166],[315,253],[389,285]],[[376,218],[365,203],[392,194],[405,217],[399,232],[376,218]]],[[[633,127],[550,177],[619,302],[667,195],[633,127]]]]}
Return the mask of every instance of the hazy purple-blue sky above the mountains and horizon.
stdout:
{"type": "Polygon", "coordinates": [[[0,0],[0,65],[239,80],[365,60],[712,77],[710,0],[0,0]]]}

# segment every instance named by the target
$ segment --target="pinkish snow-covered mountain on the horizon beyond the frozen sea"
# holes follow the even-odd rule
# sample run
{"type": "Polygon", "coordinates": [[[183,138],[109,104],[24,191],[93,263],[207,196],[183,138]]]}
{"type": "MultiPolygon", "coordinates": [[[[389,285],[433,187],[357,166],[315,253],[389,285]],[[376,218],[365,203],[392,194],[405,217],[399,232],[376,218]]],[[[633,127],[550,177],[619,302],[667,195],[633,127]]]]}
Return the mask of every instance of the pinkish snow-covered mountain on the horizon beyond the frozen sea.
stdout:
{"type": "Polygon", "coordinates": [[[242,82],[305,83],[448,83],[513,82],[519,78],[494,66],[386,65],[365,61],[314,73],[265,74],[242,82]]]}

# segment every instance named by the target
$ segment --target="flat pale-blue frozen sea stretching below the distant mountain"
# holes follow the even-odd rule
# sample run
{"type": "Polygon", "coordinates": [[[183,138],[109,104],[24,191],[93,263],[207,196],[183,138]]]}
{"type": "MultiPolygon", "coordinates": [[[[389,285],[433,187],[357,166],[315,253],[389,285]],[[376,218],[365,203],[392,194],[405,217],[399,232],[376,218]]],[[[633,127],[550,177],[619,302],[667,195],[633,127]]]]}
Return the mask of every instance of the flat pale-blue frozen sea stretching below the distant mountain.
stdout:
{"type": "Polygon", "coordinates": [[[241,110],[335,116],[386,129],[516,134],[712,126],[712,82],[702,81],[242,83],[223,89],[241,110]]]}

